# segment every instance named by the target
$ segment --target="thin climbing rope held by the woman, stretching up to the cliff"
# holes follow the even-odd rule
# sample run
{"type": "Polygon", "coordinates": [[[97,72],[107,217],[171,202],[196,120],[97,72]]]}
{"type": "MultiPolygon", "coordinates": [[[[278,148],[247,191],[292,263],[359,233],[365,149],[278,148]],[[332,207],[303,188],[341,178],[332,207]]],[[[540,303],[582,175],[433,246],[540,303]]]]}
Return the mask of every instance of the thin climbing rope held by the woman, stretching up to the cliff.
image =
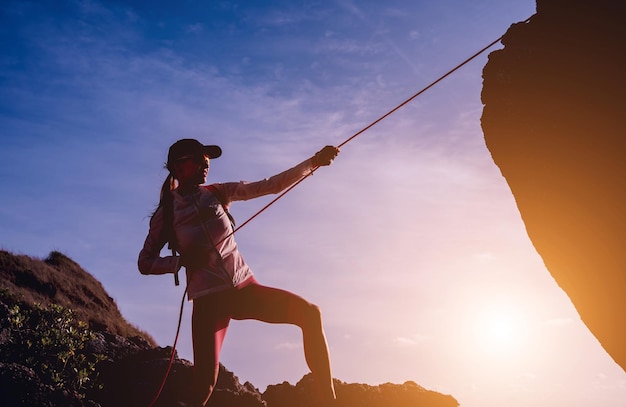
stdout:
{"type": "MultiPolygon", "coordinates": [[[[526,20],[523,21],[523,23],[527,23],[530,20],[530,18],[527,18],[526,20]]],[[[341,144],[339,144],[337,147],[341,148],[344,145],[348,144],[350,141],[354,140],[355,138],[357,138],[358,136],[360,136],[361,134],[365,133],[367,130],[371,129],[372,127],[374,127],[375,125],[377,125],[378,123],[380,123],[381,121],[383,121],[384,119],[386,119],[387,117],[391,116],[393,113],[395,113],[396,111],[400,110],[402,107],[406,106],[407,104],[409,104],[411,101],[413,101],[413,99],[417,98],[418,96],[420,96],[422,93],[426,92],[428,89],[432,88],[433,86],[435,86],[436,84],[438,84],[439,82],[441,82],[442,80],[444,80],[445,78],[447,78],[448,76],[452,75],[454,72],[458,71],[460,68],[462,68],[463,66],[465,66],[466,64],[468,64],[469,62],[471,62],[472,60],[474,60],[476,57],[478,57],[479,55],[481,55],[482,53],[484,53],[485,51],[487,51],[489,48],[493,47],[496,43],[498,43],[500,40],[502,40],[502,37],[504,37],[504,35],[501,35],[500,37],[498,37],[497,39],[493,40],[492,42],[490,42],[488,45],[486,45],[485,47],[483,47],[482,49],[480,49],[479,51],[477,51],[476,53],[474,53],[472,56],[470,56],[469,58],[467,58],[466,60],[464,60],[463,62],[461,62],[460,64],[458,64],[457,66],[455,66],[454,68],[450,69],[448,72],[446,72],[445,74],[441,75],[439,78],[437,78],[436,80],[434,80],[433,82],[431,82],[429,85],[427,85],[426,87],[424,87],[423,89],[421,89],[420,91],[418,91],[417,93],[413,94],[411,97],[407,98],[406,100],[404,100],[402,103],[398,104],[396,107],[394,107],[393,109],[391,109],[390,111],[388,111],[387,113],[383,114],[382,116],[380,116],[378,119],[374,120],[373,122],[371,122],[370,124],[368,124],[367,126],[363,127],[361,130],[357,131],[356,133],[354,133],[352,136],[348,137],[346,140],[344,140],[341,144]]],[[[250,223],[253,219],[255,219],[257,216],[259,216],[260,214],[262,214],[263,212],[265,212],[265,210],[267,210],[270,206],[274,205],[279,199],[281,199],[283,196],[285,196],[287,193],[289,193],[292,189],[294,189],[295,187],[297,187],[298,185],[300,185],[300,183],[302,183],[302,181],[304,181],[305,179],[307,179],[308,177],[310,177],[311,175],[313,175],[313,173],[315,171],[317,171],[318,167],[315,167],[311,170],[311,172],[309,172],[307,175],[305,175],[304,177],[300,178],[300,180],[298,180],[297,182],[295,182],[294,184],[292,184],[290,187],[288,187],[287,189],[285,189],[282,193],[280,193],[278,196],[276,196],[276,198],[272,199],[267,205],[265,205],[264,207],[262,207],[261,209],[259,209],[254,215],[252,215],[250,218],[248,218],[245,222],[243,222],[241,225],[239,225],[237,228],[235,228],[231,233],[229,233],[226,237],[224,237],[222,240],[220,240],[219,242],[217,242],[216,246],[219,245],[220,243],[222,243],[224,240],[226,240],[227,238],[229,238],[230,236],[234,235],[237,231],[239,231],[241,228],[243,228],[244,226],[246,226],[248,223],[250,223]]],[[[174,356],[176,354],[176,344],[178,342],[178,336],[180,333],[180,325],[181,325],[181,321],[182,321],[182,317],[183,317],[183,307],[185,305],[185,295],[187,294],[187,290],[185,290],[185,292],[183,293],[183,299],[181,301],[180,304],[180,313],[178,315],[178,327],[176,329],[176,338],[174,339],[174,345],[172,346],[172,355],[170,357],[170,361],[169,361],[169,365],[167,367],[167,370],[165,372],[165,377],[163,378],[163,382],[161,383],[161,386],[156,394],[156,396],[154,397],[154,399],[152,400],[152,402],[150,403],[150,407],[152,407],[157,400],[159,399],[159,397],[161,396],[161,392],[163,391],[163,388],[165,386],[165,382],[167,381],[167,378],[170,374],[171,368],[172,368],[172,364],[174,362],[174,356]]]]}

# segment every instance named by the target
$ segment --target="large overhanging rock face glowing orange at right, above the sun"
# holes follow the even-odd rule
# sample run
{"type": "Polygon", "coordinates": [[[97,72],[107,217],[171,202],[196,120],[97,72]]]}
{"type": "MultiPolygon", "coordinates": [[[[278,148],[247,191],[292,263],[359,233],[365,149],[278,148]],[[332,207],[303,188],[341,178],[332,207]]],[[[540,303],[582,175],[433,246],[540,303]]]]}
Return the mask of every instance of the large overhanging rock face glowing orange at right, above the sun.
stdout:
{"type": "Polygon", "coordinates": [[[528,235],[626,368],[626,2],[538,0],[483,71],[482,127],[528,235]]]}

